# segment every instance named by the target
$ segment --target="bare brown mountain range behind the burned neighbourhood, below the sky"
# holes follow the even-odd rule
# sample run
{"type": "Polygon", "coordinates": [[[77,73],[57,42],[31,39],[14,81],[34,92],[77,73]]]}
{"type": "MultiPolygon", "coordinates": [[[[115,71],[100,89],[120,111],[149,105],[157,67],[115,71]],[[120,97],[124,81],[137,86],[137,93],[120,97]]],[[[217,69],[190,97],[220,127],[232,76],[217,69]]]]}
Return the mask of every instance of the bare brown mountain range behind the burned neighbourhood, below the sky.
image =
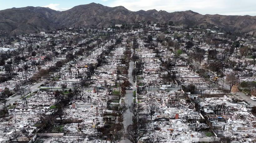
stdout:
{"type": "MultiPolygon", "coordinates": [[[[36,33],[63,27],[108,27],[138,21],[168,22],[176,25],[215,25],[226,32],[256,31],[256,16],[202,15],[194,11],[129,11],[123,6],[107,7],[97,3],[75,6],[66,11],[48,7],[10,8],[0,11],[0,30],[7,34],[36,33]]],[[[0,33],[1,34],[1,33],[0,33]]]]}

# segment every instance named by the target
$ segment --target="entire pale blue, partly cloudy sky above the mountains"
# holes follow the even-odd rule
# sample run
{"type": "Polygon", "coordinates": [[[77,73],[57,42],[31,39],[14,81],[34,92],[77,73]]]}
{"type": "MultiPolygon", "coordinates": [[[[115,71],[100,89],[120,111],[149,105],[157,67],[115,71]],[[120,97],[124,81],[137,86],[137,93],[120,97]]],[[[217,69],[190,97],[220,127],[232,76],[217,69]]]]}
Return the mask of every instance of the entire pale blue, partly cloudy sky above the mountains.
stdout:
{"type": "Polygon", "coordinates": [[[74,6],[100,3],[105,6],[124,6],[131,11],[165,10],[167,12],[192,10],[200,14],[256,16],[256,0],[0,0],[0,10],[12,7],[49,7],[65,11],[74,6]]]}

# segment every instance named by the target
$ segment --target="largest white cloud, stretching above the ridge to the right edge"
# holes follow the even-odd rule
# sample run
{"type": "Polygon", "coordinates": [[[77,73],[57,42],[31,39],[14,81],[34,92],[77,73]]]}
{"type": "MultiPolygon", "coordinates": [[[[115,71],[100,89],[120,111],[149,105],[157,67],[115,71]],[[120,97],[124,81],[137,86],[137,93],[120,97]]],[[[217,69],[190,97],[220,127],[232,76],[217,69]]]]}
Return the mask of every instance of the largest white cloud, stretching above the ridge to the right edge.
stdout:
{"type": "Polygon", "coordinates": [[[256,15],[256,1],[244,0],[114,0],[110,7],[124,6],[131,11],[165,10],[167,12],[192,10],[200,14],[256,15]]]}

